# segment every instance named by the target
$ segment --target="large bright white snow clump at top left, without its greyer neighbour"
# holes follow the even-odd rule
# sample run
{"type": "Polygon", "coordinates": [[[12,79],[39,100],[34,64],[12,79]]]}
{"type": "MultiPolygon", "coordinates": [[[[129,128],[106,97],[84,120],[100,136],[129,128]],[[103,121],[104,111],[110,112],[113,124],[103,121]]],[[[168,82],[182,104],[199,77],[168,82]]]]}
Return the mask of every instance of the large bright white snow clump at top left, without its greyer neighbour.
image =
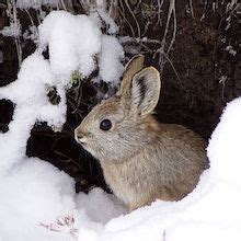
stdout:
{"type": "Polygon", "coordinates": [[[39,25],[41,48],[48,44],[53,72],[69,81],[74,70],[88,77],[94,69],[94,55],[101,51],[101,31],[87,15],[65,11],[49,13],[39,25]]]}

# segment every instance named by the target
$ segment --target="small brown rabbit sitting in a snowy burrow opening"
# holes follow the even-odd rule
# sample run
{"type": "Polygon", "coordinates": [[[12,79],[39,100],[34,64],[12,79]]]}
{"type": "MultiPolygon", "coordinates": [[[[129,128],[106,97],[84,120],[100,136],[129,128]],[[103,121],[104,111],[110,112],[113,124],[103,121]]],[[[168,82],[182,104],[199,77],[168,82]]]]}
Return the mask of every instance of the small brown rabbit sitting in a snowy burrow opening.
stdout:
{"type": "Polygon", "coordinates": [[[77,127],[78,142],[100,160],[106,183],[130,210],[154,199],[179,200],[208,167],[205,141],[192,130],[152,116],[160,74],[144,56],[126,67],[120,90],[77,127]]]}

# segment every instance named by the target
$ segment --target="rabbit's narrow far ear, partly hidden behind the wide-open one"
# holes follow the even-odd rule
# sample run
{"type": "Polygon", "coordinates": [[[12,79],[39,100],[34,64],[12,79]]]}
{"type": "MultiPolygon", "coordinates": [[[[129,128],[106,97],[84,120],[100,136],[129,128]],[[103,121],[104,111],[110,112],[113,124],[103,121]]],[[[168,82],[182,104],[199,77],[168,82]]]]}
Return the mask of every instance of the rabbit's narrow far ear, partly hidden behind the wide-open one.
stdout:
{"type": "Polygon", "coordinates": [[[133,77],[144,68],[144,55],[136,55],[127,62],[120,84],[120,93],[125,93],[127,90],[129,90],[133,77]]]}

